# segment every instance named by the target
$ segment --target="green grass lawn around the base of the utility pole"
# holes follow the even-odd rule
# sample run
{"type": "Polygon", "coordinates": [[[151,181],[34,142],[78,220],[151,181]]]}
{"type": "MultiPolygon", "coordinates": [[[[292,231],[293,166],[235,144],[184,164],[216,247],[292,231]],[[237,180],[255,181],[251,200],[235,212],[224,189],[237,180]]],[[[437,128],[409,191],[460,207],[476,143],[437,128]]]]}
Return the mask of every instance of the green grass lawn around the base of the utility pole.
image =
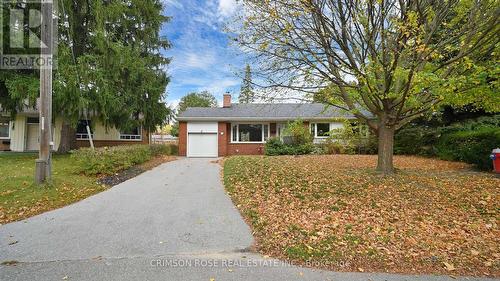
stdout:
{"type": "Polygon", "coordinates": [[[77,161],[69,155],[54,155],[52,184],[36,186],[37,156],[0,153],[0,224],[77,202],[108,188],[99,184],[96,176],[77,173],[77,161]]]}

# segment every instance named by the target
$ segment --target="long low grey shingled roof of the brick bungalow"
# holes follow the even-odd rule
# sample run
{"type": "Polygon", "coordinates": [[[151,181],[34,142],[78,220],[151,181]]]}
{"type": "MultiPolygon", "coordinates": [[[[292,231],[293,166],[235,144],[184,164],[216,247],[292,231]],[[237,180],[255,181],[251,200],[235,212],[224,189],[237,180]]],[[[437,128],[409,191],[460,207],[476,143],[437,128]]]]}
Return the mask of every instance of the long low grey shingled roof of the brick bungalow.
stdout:
{"type": "Polygon", "coordinates": [[[188,107],[179,121],[287,121],[355,118],[351,113],[320,103],[233,103],[230,107],[188,107]]]}

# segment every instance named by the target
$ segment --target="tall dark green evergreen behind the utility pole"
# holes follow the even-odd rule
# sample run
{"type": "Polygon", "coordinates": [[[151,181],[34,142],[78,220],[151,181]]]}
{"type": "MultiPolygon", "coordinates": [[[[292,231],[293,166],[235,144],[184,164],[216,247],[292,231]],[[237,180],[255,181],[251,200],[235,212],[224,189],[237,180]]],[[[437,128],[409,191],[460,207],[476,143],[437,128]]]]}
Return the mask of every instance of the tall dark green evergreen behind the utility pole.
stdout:
{"type": "MultiPolygon", "coordinates": [[[[53,112],[64,120],[60,152],[71,148],[82,117],[119,129],[154,129],[166,120],[170,60],[160,51],[169,42],[159,32],[169,18],[162,10],[161,0],[59,1],[53,112]]],[[[34,105],[38,92],[38,71],[0,72],[4,109],[34,105]]]]}

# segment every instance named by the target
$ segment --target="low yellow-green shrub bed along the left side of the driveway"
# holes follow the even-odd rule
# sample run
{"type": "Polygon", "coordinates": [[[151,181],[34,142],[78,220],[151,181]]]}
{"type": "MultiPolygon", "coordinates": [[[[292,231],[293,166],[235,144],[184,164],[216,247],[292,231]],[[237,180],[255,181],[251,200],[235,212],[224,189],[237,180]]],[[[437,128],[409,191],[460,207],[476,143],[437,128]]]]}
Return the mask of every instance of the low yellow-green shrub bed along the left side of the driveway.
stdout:
{"type": "Polygon", "coordinates": [[[71,157],[79,163],[80,170],[87,175],[110,175],[144,163],[159,155],[177,153],[175,145],[128,145],[103,147],[92,150],[82,148],[72,151],[71,157]]]}

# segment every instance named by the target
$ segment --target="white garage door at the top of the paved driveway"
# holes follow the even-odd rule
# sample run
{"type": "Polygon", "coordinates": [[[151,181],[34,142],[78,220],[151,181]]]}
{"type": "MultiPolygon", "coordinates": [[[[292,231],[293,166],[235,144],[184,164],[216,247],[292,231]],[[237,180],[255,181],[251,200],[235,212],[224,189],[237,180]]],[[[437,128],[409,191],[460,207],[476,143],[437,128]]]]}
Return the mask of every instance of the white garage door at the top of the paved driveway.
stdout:
{"type": "Polygon", "coordinates": [[[217,157],[217,122],[187,124],[187,156],[217,157]]]}

